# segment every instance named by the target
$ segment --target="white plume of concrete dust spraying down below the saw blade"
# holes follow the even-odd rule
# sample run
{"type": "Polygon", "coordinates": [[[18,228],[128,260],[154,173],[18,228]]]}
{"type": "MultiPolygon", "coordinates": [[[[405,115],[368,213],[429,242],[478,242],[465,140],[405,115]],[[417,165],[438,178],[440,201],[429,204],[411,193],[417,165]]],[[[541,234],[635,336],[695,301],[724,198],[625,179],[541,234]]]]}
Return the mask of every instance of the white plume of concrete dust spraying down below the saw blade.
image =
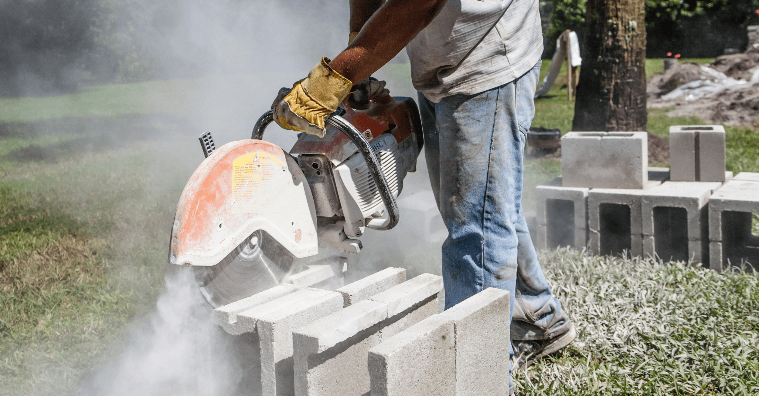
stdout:
{"type": "Polygon", "coordinates": [[[156,312],[131,333],[120,357],[83,379],[78,393],[257,394],[250,391],[250,385],[258,382],[256,370],[250,370],[258,354],[253,343],[244,337],[233,338],[213,324],[192,269],[169,271],[165,281],[156,312]]]}

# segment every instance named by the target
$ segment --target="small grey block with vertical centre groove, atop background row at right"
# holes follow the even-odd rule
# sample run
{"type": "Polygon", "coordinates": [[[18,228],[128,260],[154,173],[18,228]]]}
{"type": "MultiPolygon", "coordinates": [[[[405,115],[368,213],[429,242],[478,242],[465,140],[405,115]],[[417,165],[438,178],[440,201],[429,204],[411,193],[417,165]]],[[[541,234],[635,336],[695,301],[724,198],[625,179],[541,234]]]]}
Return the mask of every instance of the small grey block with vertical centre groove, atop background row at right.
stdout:
{"type": "Polygon", "coordinates": [[[726,181],[722,125],[669,127],[671,181],[726,181]]]}

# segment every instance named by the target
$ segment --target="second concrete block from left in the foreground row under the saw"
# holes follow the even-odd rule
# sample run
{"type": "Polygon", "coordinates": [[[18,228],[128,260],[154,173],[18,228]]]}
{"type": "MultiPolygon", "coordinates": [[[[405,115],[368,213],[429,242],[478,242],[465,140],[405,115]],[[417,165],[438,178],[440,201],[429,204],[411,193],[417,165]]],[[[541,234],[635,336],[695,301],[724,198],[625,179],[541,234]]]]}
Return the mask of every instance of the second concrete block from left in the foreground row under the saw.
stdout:
{"type": "Polygon", "coordinates": [[[247,319],[256,325],[264,396],[294,393],[293,330],[341,309],[341,294],[305,288],[238,313],[238,320],[247,319]]]}

